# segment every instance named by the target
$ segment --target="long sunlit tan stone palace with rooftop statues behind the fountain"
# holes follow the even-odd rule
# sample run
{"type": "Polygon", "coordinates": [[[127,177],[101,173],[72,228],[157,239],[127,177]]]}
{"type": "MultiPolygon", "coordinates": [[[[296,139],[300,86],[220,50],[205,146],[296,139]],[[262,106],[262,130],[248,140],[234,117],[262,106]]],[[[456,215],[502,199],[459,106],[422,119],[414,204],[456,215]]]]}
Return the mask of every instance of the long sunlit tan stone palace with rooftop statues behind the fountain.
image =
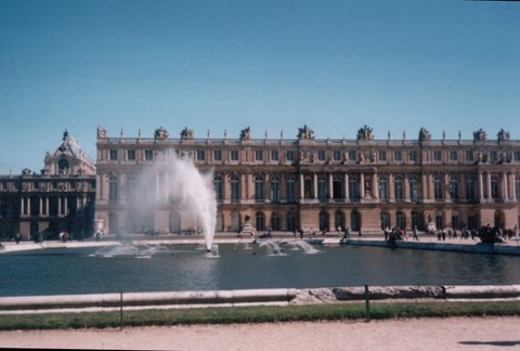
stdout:
{"type": "MultiPolygon", "coordinates": [[[[295,136],[255,139],[246,128],[236,139],[225,132],[197,139],[185,128],[170,138],[158,128],[151,138],[127,138],[99,127],[95,221],[115,234],[197,230],[194,213],[165,191],[176,179],[154,168],[174,153],[212,172],[217,232],[238,232],[246,221],[257,231],[341,226],[362,233],[395,225],[512,229],[519,222],[520,141],[504,130],[493,139],[479,130],[470,140],[460,133],[433,140],[422,128],[414,139],[403,133],[395,140],[375,139],[364,126],[355,139],[333,140],[304,126],[295,136]],[[144,172],[154,176],[141,182],[144,172]],[[142,196],[156,200],[140,203],[142,196]]],[[[31,206],[23,203],[21,212],[31,206]]]]}

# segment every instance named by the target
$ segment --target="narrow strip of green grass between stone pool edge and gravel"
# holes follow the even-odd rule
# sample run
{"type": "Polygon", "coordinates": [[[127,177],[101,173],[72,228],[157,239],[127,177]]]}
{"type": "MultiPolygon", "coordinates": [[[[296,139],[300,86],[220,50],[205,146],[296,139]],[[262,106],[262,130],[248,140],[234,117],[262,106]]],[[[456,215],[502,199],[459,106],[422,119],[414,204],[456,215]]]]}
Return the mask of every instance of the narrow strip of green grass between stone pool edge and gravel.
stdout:
{"type": "MultiPolygon", "coordinates": [[[[399,302],[372,303],[370,320],[451,316],[516,316],[519,302],[399,302]]],[[[0,330],[80,329],[190,324],[273,323],[365,320],[364,303],[288,307],[230,307],[172,310],[15,314],[0,317],[0,330]]]]}

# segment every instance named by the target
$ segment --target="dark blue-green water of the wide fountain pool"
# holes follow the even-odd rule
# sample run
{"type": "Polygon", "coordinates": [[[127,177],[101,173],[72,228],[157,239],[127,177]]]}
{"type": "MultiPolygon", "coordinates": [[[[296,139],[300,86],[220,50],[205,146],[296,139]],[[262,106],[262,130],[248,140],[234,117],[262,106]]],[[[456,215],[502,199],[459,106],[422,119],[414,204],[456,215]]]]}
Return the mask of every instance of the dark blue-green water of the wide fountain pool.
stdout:
{"type": "Polygon", "coordinates": [[[218,256],[196,245],[3,253],[0,296],[520,283],[514,256],[296,244],[219,245],[218,256]]]}

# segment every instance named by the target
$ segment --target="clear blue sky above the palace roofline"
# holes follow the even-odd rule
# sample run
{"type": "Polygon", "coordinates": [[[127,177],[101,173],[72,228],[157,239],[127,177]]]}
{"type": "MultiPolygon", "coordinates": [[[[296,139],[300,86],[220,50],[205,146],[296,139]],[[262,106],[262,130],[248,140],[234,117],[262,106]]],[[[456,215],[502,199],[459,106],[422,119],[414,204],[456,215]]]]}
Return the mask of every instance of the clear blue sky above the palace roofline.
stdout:
{"type": "Polygon", "coordinates": [[[0,0],[0,173],[109,136],[520,140],[520,2],[0,0]]]}

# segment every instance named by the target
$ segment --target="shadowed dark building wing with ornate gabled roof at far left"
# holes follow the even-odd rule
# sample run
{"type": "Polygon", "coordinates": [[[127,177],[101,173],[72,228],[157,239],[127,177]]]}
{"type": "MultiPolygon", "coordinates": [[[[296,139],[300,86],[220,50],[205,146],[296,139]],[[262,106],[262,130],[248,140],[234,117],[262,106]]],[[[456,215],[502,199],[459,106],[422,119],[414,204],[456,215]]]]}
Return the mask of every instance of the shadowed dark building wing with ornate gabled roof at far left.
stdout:
{"type": "Polygon", "coordinates": [[[0,237],[57,238],[92,235],[95,165],[67,131],[40,173],[0,176],[0,237]]]}

